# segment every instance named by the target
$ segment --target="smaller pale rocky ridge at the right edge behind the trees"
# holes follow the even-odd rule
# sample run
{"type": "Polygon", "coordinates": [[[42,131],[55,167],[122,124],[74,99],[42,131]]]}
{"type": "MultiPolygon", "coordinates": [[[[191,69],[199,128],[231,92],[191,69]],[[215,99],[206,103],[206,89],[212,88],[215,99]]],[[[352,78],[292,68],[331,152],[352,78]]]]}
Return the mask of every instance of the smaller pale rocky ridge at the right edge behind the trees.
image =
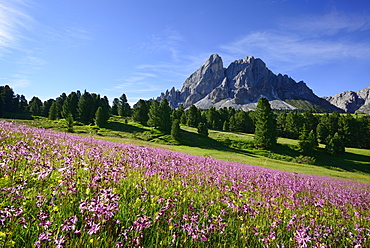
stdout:
{"type": "Polygon", "coordinates": [[[370,87],[357,92],[344,91],[325,99],[345,112],[370,114],[370,87]]]}

